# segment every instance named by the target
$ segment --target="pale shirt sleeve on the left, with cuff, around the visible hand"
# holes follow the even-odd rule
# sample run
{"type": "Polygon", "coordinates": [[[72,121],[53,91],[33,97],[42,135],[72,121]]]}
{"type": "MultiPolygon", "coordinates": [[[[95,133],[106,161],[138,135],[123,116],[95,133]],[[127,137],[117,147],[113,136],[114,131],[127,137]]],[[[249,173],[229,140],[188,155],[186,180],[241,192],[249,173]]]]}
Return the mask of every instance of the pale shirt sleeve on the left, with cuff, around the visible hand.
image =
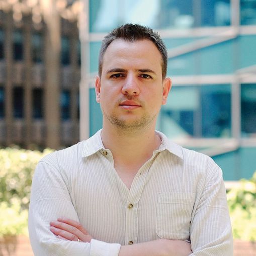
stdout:
{"type": "MultiPolygon", "coordinates": [[[[92,239],[90,243],[66,241],[50,231],[58,217],[79,221],[68,190],[67,178],[41,161],[33,177],[29,206],[29,237],[35,256],[118,256],[121,245],[92,239]]],[[[85,227],[86,228],[86,227],[85,227]]]]}

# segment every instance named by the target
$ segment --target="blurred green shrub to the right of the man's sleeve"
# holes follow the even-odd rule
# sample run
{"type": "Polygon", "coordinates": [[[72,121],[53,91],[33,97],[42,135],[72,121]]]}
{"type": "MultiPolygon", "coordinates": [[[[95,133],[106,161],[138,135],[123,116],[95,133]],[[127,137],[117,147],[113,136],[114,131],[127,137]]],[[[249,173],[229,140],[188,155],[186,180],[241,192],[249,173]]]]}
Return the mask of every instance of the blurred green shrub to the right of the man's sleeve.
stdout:
{"type": "Polygon", "coordinates": [[[256,241],[256,172],[227,193],[235,239],[256,241]]]}

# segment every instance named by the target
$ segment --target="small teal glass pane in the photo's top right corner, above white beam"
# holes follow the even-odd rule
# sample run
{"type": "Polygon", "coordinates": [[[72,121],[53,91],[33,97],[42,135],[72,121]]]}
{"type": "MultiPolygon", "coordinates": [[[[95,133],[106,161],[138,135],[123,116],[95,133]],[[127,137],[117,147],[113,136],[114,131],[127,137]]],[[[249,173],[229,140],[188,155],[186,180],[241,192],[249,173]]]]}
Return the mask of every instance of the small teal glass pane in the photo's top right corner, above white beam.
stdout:
{"type": "Polygon", "coordinates": [[[241,25],[256,24],[256,0],[241,0],[241,25]]]}

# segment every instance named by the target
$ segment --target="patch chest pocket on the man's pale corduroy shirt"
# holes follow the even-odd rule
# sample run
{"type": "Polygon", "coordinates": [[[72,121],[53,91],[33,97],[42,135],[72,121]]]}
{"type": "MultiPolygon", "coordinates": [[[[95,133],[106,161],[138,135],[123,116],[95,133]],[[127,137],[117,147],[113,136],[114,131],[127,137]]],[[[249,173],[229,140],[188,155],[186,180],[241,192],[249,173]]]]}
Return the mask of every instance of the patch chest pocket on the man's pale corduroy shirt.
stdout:
{"type": "Polygon", "coordinates": [[[160,238],[189,240],[195,193],[159,193],[156,233],[160,238]]]}

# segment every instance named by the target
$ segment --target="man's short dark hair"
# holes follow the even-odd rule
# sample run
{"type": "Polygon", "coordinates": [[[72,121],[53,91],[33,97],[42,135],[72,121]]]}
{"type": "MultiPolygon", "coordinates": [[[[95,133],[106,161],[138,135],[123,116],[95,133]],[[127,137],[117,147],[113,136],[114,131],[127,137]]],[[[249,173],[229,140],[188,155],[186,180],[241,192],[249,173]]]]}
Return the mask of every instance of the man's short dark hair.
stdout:
{"type": "Polygon", "coordinates": [[[106,52],[109,45],[116,39],[123,39],[125,41],[130,42],[135,42],[144,39],[152,41],[162,55],[162,77],[163,79],[166,77],[168,60],[167,49],[160,35],[157,32],[154,32],[149,27],[131,23],[127,23],[118,28],[115,28],[102,40],[98,65],[98,73],[100,77],[102,74],[102,62],[104,53],[106,52]]]}

